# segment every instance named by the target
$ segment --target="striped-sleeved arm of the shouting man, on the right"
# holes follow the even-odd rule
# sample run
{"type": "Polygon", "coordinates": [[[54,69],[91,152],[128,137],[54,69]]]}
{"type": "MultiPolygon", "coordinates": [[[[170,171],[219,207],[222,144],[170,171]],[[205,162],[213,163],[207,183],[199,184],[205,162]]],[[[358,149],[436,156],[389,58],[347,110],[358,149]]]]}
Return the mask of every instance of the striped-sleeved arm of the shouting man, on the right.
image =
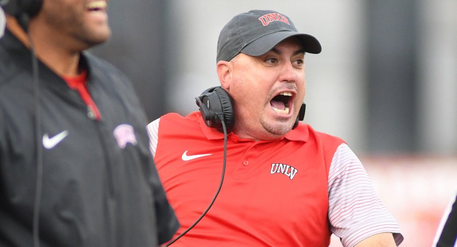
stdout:
{"type": "Polygon", "coordinates": [[[330,165],[329,220],[343,246],[395,246],[403,240],[398,222],[382,204],[367,171],[347,144],[338,147],[330,165]],[[384,241],[386,234],[393,245],[376,244],[384,241]]]}

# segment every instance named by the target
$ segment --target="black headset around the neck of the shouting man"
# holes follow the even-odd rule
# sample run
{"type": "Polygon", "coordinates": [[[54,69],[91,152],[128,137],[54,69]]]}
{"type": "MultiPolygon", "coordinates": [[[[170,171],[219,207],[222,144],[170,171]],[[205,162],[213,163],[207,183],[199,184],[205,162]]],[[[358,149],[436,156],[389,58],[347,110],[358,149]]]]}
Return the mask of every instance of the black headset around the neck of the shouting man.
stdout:
{"type": "MultiPolygon", "coordinates": [[[[235,115],[232,98],[225,89],[221,87],[208,88],[200,96],[196,97],[195,100],[206,126],[222,131],[220,117],[223,117],[225,126],[230,133],[235,123],[235,115]]],[[[298,126],[298,122],[304,119],[305,110],[306,105],[302,103],[292,129],[295,129],[298,126]]]]}

